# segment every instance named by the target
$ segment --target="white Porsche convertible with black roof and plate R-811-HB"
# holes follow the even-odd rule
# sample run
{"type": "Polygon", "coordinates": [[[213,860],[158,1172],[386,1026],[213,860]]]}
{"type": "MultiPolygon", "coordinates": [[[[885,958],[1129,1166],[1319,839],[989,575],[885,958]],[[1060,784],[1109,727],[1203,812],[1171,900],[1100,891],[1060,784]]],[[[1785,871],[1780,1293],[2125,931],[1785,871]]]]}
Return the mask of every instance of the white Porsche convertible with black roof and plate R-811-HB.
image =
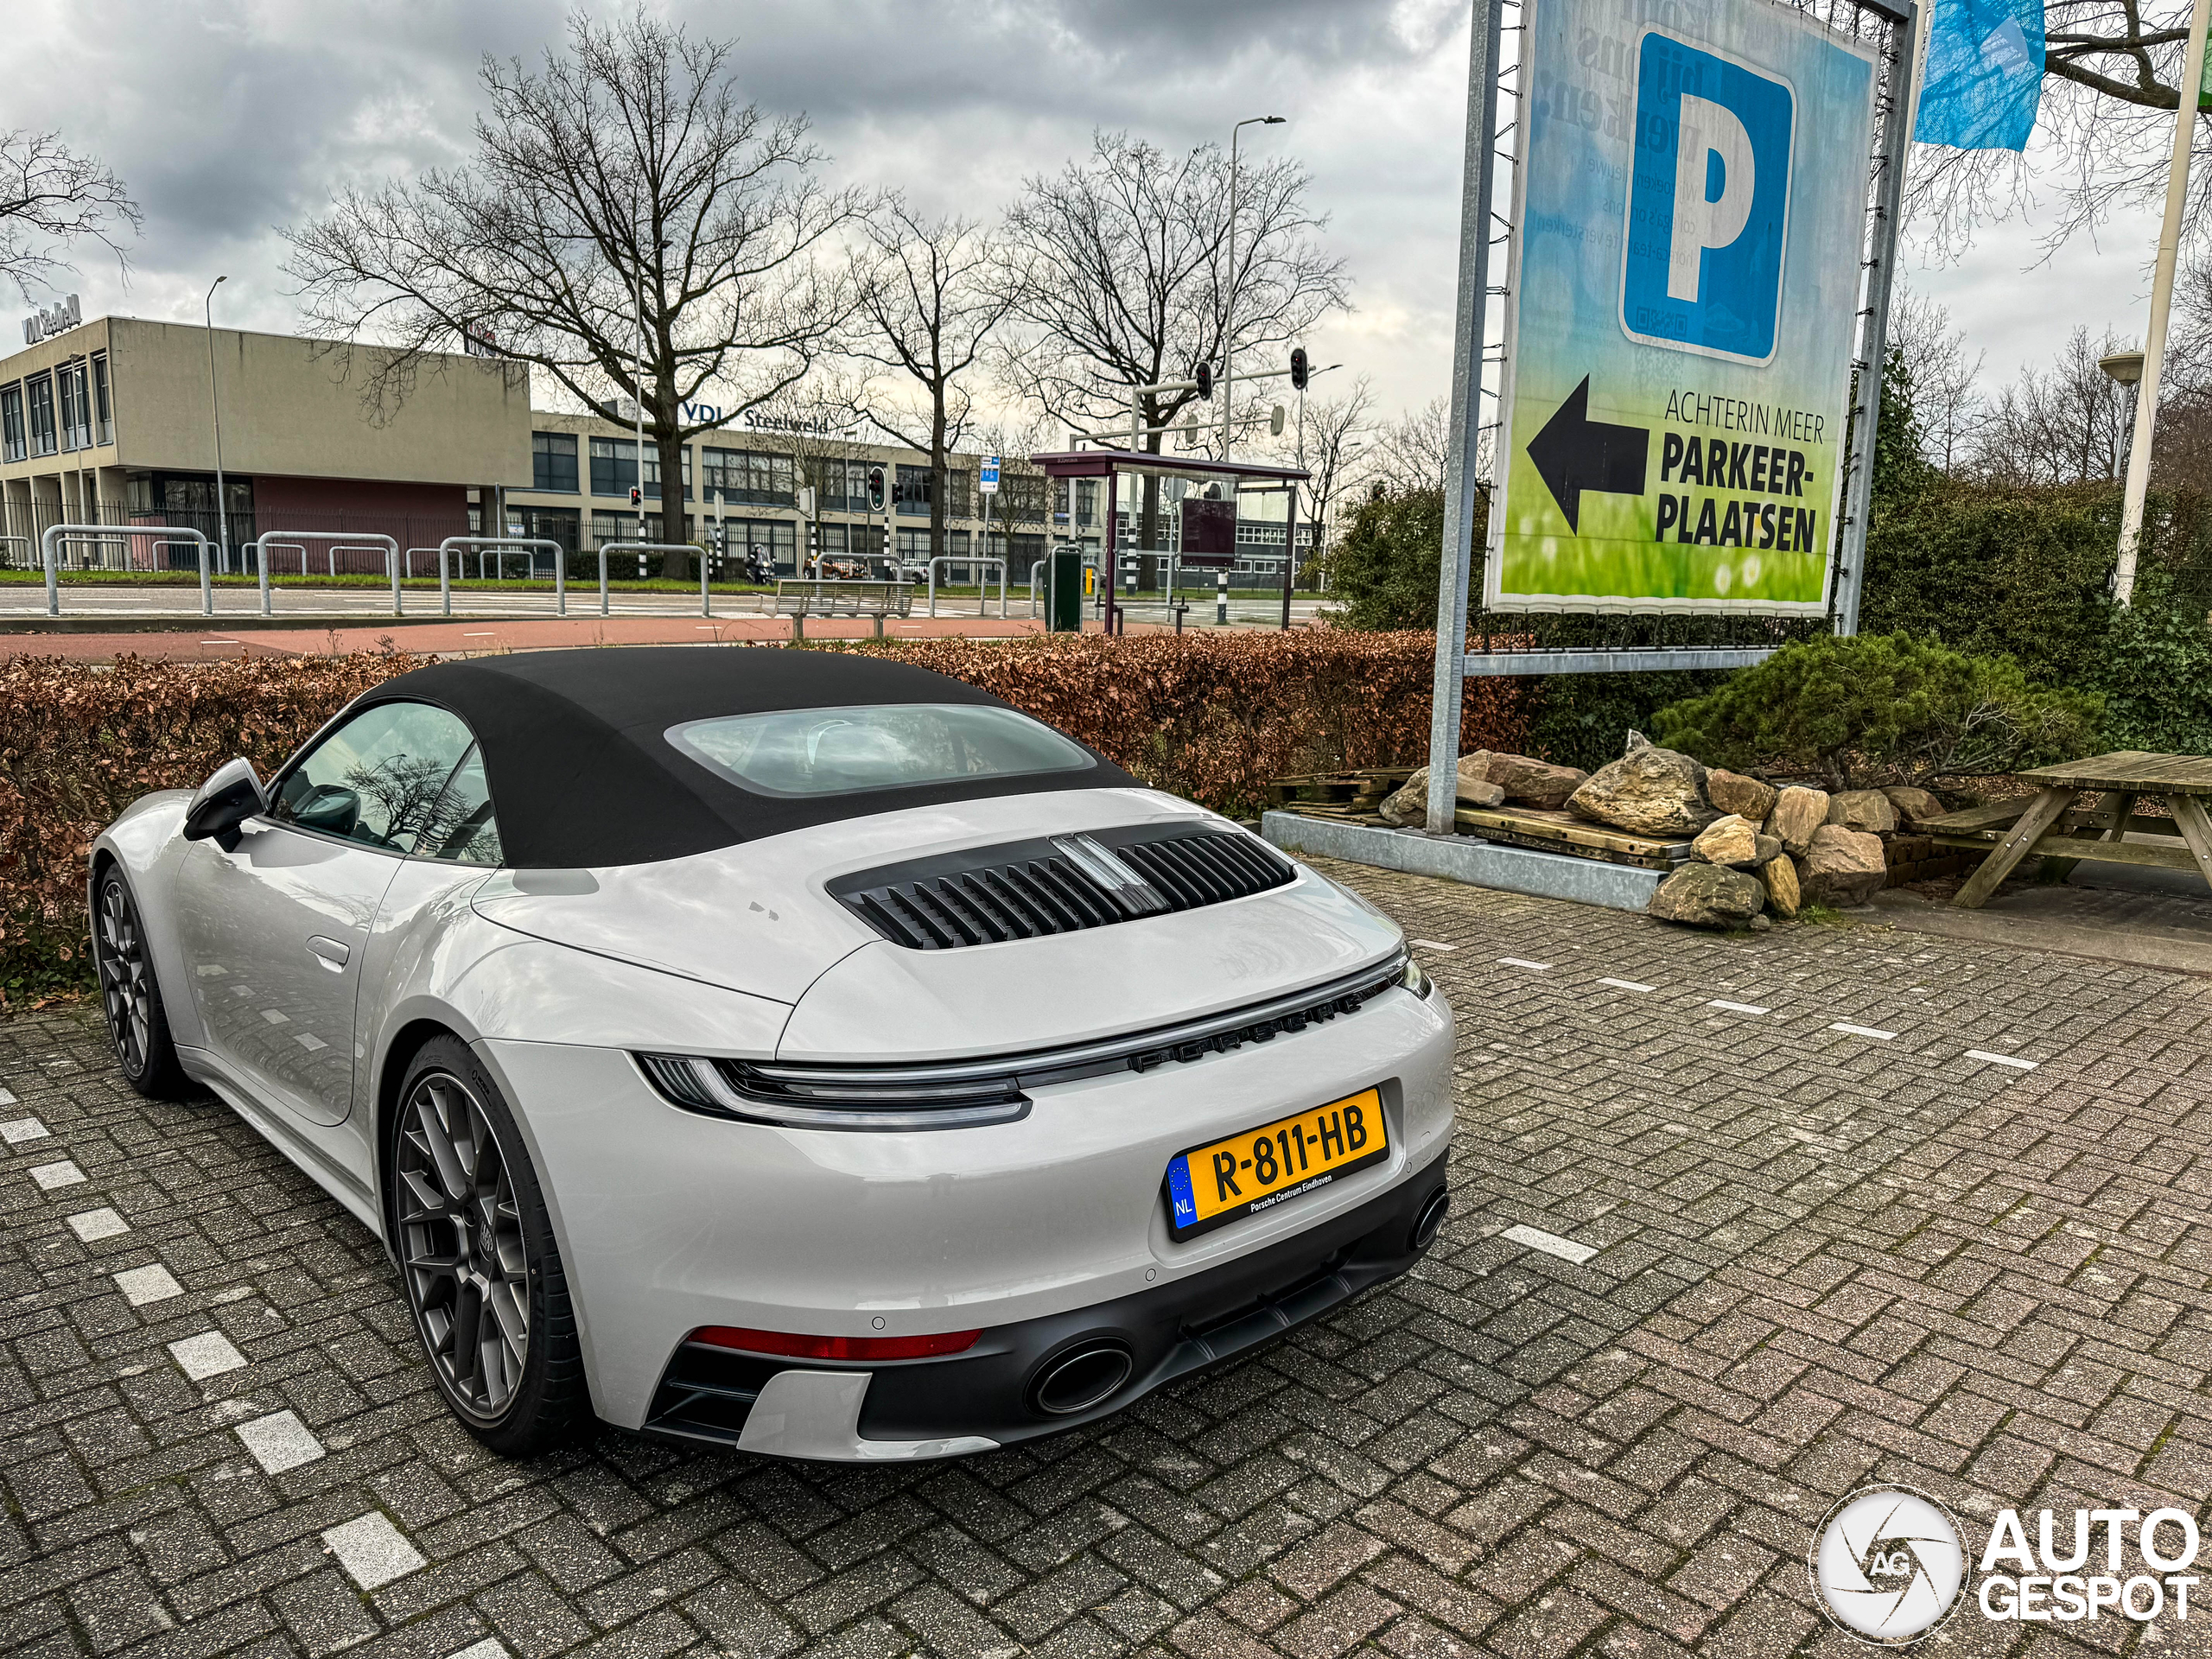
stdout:
{"type": "Polygon", "coordinates": [[[989,1451],[1444,1219],[1453,1020],[1387,918],[883,659],[420,668],[137,801],[91,909],[133,1086],[358,1214],[504,1453],[989,1451]]]}

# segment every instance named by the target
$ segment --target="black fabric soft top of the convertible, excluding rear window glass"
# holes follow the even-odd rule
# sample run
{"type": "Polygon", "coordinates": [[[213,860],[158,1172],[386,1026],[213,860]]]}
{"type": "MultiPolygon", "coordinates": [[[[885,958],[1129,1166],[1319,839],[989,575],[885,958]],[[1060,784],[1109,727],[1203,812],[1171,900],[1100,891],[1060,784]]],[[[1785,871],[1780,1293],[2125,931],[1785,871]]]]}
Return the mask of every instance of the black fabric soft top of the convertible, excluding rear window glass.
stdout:
{"type": "Polygon", "coordinates": [[[953,779],[825,796],[743,790],[677,750],[670,726],[719,714],[876,703],[987,703],[927,668],[827,650],[633,646],[434,664],[354,708],[436,703],[484,750],[500,845],[515,869],[646,865],[940,801],[1135,785],[1095,750],[1073,772],[953,779]]]}

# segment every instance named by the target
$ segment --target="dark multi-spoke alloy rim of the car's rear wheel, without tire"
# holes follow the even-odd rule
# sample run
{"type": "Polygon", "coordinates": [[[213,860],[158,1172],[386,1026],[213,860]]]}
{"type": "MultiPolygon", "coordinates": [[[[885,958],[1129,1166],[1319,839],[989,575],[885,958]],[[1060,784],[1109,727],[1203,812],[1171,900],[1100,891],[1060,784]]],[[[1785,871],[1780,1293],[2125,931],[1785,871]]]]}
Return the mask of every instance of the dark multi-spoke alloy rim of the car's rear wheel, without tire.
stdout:
{"type": "Polygon", "coordinates": [[[400,1108],[400,1265],[447,1396],[495,1420],[522,1385],[531,1261],[513,1177],[484,1104],[451,1073],[420,1077],[400,1108]]]}

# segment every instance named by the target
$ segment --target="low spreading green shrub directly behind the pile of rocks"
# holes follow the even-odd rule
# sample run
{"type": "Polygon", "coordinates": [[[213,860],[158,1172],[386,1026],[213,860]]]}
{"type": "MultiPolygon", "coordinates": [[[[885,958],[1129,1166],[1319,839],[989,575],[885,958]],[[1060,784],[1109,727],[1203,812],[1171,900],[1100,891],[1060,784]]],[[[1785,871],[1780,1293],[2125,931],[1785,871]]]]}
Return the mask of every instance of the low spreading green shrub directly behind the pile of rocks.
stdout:
{"type": "Polygon", "coordinates": [[[1652,737],[1708,765],[1849,790],[2077,759],[2101,714],[2095,692],[2031,686],[2011,657],[1896,633],[1783,646],[1717,692],[1659,710],[1652,737]]]}

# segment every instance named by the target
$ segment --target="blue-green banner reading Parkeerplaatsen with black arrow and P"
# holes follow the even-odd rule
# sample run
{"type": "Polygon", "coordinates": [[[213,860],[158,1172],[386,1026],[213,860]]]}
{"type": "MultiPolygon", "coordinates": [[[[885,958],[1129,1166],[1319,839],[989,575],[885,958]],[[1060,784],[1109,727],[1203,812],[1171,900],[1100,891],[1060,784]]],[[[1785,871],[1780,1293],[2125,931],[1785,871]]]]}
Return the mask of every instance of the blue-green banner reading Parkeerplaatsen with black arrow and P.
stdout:
{"type": "Polygon", "coordinates": [[[1827,608],[1871,46],[1531,0],[1493,611],[1827,608]]]}

